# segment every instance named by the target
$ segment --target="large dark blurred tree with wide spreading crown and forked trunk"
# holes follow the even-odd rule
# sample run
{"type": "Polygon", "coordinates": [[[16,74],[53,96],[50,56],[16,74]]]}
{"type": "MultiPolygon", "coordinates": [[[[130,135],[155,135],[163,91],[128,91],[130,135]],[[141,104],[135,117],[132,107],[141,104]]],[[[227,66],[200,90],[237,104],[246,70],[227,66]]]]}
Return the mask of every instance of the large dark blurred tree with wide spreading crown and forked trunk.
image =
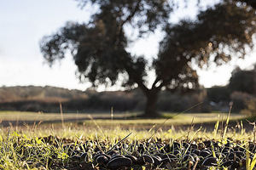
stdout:
{"type": "MultiPolygon", "coordinates": [[[[68,22],[54,35],[44,37],[40,47],[52,65],[71,52],[82,82],[113,85],[118,80],[127,88],[141,88],[147,98],[145,116],[157,116],[161,89],[197,88],[192,65],[222,65],[232,57],[243,57],[252,48],[255,11],[246,4],[225,0],[201,10],[196,20],[170,22],[175,1],[166,0],[80,0],[98,10],[88,23],[68,22]],[[127,51],[131,43],[125,28],[146,36],[165,31],[159,54],[151,63],[127,51]],[[155,72],[149,85],[148,68],[155,72]],[[122,76],[119,79],[119,76],[122,76]]],[[[212,80],[213,81],[213,80],[212,80]]]]}

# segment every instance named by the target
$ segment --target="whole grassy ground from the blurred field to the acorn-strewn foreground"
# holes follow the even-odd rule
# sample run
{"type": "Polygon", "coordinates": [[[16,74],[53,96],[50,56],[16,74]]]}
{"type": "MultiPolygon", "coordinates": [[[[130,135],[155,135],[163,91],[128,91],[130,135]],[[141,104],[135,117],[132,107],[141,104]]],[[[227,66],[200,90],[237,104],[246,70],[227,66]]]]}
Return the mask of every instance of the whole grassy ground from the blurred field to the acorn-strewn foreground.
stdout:
{"type": "Polygon", "coordinates": [[[36,123],[0,128],[0,169],[253,170],[255,166],[256,129],[250,125],[247,130],[246,121],[240,121],[245,116],[165,113],[167,118],[137,119],[133,114],[128,119],[127,115],[115,114],[112,120],[109,114],[2,111],[2,124],[36,123]],[[206,131],[206,125],[213,128],[206,131]]]}

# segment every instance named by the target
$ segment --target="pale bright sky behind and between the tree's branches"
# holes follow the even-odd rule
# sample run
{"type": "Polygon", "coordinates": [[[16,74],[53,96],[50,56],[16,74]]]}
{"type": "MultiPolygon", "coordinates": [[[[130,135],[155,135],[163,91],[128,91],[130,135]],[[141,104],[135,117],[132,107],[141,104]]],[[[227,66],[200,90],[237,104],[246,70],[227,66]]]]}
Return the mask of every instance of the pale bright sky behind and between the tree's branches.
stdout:
{"type": "MultiPolygon", "coordinates": [[[[197,1],[195,1],[197,2],[197,1]]],[[[55,33],[68,20],[83,22],[89,20],[94,8],[78,7],[74,0],[0,0],[0,86],[55,86],[85,90],[90,83],[80,83],[75,76],[76,66],[71,56],[56,63],[51,68],[40,53],[39,41],[42,37],[55,33]]],[[[195,15],[195,10],[187,8],[178,11],[172,20],[195,15]]],[[[157,54],[160,32],[147,39],[132,43],[131,54],[145,55],[152,59],[157,54]]],[[[256,62],[255,52],[246,59],[234,59],[228,65],[207,70],[198,70],[199,82],[206,88],[225,85],[236,65],[249,69],[256,62]]],[[[152,76],[152,74],[150,74],[152,76]]],[[[153,78],[151,78],[153,80],[153,78]]],[[[100,87],[99,90],[115,90],[100,87]]]]}

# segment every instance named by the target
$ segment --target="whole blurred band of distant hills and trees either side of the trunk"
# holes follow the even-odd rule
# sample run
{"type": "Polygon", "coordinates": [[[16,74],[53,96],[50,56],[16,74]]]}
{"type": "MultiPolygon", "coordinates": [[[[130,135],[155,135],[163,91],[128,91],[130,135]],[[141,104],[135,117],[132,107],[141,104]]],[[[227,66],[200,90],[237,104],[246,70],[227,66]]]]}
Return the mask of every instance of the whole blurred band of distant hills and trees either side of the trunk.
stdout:
{"type": "MultiPolygon", "coordinates": [[[[146,98],[138,88],[127,91],[96,92],[95,90],[68,90],[55,87],[4,87],[0,88],[0,110],[59,112],[60,102],[65,112],[140,111],[146,98]]],[[[228,111],[233,101],[232,112],[256,113],[256,67],[241,70],[237,67],[230,83],[223,87],[201,88],[189,93],[161,91],[158,110],[179,112],[228,111]],[[200,105],[198,105],[200,104],[200,105]]]]}

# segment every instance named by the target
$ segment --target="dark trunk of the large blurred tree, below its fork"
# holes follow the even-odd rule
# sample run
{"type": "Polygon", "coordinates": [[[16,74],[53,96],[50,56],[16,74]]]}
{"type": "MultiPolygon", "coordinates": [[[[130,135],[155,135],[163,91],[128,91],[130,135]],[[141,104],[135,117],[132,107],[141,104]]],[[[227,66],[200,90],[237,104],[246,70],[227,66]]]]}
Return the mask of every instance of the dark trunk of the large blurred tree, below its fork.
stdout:
{"type": "Polygon", "coordinates": [[[158,100],[158,90],[149,90],[146,93],[147,103],[145,107],[144,117],[158,117],[160,113],[157,112],[157,100],[158,100]]]}

